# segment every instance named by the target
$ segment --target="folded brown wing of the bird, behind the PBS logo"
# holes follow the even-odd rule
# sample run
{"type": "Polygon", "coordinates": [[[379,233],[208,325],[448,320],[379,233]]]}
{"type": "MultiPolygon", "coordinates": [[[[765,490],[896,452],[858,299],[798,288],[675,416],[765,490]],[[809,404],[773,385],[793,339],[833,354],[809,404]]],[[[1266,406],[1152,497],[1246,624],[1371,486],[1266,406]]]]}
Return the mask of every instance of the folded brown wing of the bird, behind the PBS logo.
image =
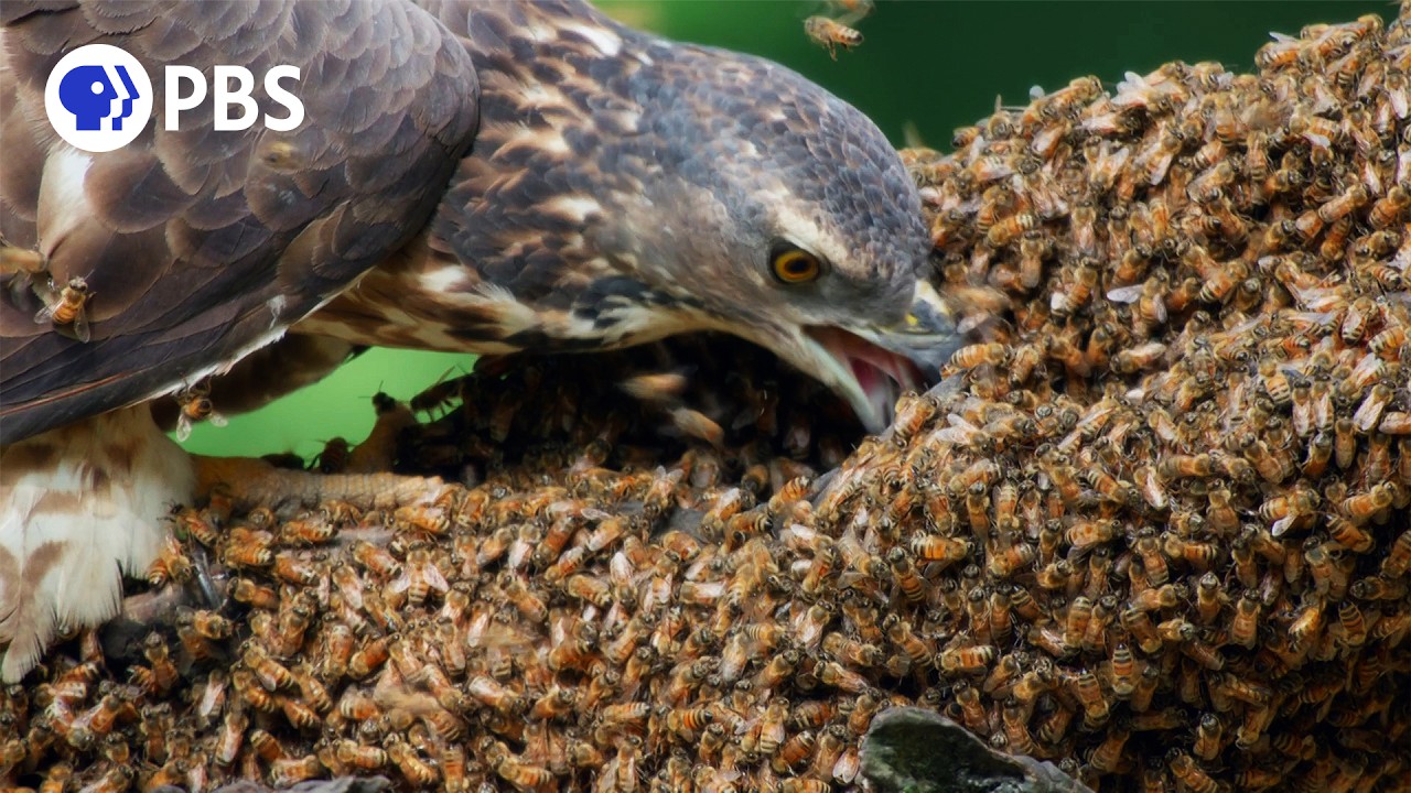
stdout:
{"type": "MultiPolygon", "coordinates": [[[[0,436],[14,442],[230,365],[409,240],[476,131],[464,47],[405,0],[6,3],[0,237],[37,248],[56,282],[86,277],[92,340],[32,322],[0,293],[0,436]],[[56,138],[44,83],[69,49],[113,44],[152,76],[133,144],[86,154],[56,138]],[[165,63],[238,63],[260,111],[274,65],[299,66],[305,123],[214,131],[207,100],[164,128],[165,63]]],[[[288,87],[288,83],[285,83],[288,87]]]]}

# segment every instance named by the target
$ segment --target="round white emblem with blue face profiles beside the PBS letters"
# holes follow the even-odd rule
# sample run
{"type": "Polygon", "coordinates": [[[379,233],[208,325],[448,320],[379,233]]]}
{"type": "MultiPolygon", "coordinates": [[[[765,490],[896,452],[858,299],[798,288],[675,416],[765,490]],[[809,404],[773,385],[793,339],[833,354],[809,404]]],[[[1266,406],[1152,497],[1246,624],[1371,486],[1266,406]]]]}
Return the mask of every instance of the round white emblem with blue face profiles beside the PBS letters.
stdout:
{"type": "Polygon", "coordinates": [[[152,80],[126,51],[87,44],[59,59],[44,85],[44,110],[59,137],[83,151],[133,143],[152,117],[152,80]]]}

